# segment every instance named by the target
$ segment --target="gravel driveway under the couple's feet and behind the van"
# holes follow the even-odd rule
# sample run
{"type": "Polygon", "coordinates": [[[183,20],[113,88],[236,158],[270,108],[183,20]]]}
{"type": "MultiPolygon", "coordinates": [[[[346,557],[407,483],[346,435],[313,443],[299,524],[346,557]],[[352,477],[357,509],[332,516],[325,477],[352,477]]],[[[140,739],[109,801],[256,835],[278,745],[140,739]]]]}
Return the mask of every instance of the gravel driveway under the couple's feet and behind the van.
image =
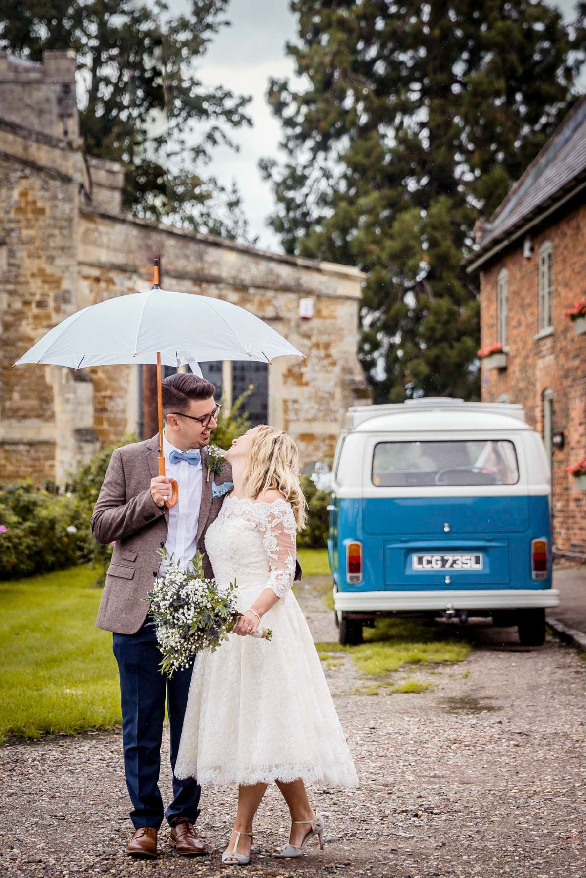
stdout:
{"type": "MultiPolygon", "coordinates": [[[[335,640],[319,583],[307,582],[300,601],[315,638],[335,640]]],[[[485,623],[460,628],[459,636],[475,647],[466,661],[394,674],[431,682],[421,694],[360,694],[369,684],[345,654],[327,671],[361,786],[312,788],[326,849],[306,847],[288,863],[266,855],[288,830],[284,804],[270,788],[257,817],[257,853],[244,871],[273,878],[586,875],[586,663],[555,640],[523,648],[513,630],[485,623]]],[[[166,828],[156,862],[125,856],[132,827],[121,744],[118,731],[2,750],[1,875],[240,874],[220,862],[233,789],[202,795],[199,830],[211,858],[171,853],[166,828]]],[[[162,774],[167,802],[167,762],[162,774]]]]}

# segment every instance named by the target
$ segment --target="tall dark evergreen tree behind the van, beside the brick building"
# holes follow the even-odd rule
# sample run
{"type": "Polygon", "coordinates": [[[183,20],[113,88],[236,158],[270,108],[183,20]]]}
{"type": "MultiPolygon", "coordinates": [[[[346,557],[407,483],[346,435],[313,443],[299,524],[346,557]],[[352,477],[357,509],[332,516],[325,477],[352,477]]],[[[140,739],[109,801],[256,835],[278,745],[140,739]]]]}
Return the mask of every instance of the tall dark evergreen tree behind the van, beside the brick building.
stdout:
{"type": "Polygon", "coordinates": [[[264,160],[287,253],[369,272],[360,356],[375,401],[474,399],[479,303],[461,266],[575,99],[575,27],[539,0],[293,0],[303,77],[271,79],[286,162],[264,160]],[[306,83],[308,83],[306,85],[306,83]]]}

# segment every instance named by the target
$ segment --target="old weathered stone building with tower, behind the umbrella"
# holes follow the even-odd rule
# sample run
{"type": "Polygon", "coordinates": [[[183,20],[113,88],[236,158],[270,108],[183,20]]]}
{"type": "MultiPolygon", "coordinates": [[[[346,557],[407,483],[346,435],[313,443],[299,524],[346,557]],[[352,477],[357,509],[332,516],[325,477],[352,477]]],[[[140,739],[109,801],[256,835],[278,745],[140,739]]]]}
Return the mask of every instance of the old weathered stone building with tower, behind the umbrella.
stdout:
{"type": "Polygon", "coordinates": [[[156,433],[152,366],[11,368],[69,314],[148,290],[156,255],[163,288],[248,308],[306,354],[201,366],[228,400],[254,384],[253,419],[286,429],[305,463],[331,455],[346,408],[365,399],[363,276],[125,213],[121,166],[85,155],[75,67],[69,53],[0,53],[0,480],[62,483],[123,435],[156,433]]]}

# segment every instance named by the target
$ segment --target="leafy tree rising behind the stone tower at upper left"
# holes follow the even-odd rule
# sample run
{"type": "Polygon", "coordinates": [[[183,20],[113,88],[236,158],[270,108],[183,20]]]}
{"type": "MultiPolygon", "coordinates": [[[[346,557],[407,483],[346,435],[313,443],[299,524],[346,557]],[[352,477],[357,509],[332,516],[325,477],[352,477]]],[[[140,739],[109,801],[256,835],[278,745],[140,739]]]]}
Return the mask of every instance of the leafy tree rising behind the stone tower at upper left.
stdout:
{"type": "Polygon", "coordinates": [[[195,62],[228,22],[228,0],[189,0],[171,16],[163,0],[4,0],[0,47],[40,61],[74,49],[80,126],[90,155],[124,162],[125,205],[138,216],[245,238],[237,191],[202,169],[235,144],[226,126],[250,125],[250,97],[208,88],[195,62]]]}

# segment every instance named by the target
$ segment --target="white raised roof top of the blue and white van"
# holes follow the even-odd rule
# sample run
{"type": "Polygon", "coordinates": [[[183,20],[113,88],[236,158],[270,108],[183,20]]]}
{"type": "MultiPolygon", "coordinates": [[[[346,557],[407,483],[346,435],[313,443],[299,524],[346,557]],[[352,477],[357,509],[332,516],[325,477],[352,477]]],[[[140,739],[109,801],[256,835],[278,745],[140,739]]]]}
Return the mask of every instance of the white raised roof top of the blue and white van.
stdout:
{"type": "Polygon", "coordinates": [[[356,432],[530,430],[522,406],[503,402],[425,398],[348,409],[346,428],[356,432]]]}

